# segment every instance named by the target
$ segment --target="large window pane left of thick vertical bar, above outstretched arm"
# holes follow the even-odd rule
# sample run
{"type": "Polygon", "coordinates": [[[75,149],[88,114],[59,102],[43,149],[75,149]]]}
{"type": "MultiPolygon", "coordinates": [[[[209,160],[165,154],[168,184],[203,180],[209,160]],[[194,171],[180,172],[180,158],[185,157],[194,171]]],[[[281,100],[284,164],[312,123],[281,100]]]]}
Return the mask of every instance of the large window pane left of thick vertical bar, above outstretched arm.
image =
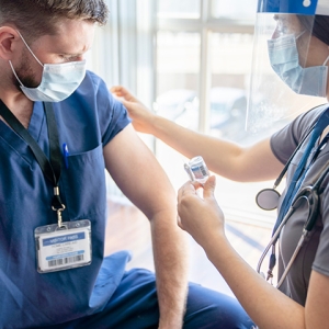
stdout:
{"type": "Polygon", "coordinates": [[[200,35],[191,32],[157,33],[157,99],[155,111],[197,129],[200,35]]]}

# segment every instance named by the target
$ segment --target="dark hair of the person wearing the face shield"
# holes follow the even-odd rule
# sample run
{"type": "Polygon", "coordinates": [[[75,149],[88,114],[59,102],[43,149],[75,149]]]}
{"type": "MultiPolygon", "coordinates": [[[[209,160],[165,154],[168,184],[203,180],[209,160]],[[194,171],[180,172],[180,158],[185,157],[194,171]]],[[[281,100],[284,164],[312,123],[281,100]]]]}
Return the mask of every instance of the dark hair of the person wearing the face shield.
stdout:
{"type": "Polygon", "coordinates": [[[329,16],[297,15],[302,25],[326,45],[329,45],[329,16]]]}

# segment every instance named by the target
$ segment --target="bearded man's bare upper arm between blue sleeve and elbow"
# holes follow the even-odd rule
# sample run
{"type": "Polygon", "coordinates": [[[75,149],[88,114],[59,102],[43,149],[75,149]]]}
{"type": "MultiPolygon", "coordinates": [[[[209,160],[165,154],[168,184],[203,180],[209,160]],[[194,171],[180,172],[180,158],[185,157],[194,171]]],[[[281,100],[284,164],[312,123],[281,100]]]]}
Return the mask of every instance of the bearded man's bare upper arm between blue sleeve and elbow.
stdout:
{"type": "Polygon", "coordinates": [[[117,134],[103,151],[115,183],[149,218],[166,208],[175,211],[175,193],[167,174],[132,125],[117,134]]]}

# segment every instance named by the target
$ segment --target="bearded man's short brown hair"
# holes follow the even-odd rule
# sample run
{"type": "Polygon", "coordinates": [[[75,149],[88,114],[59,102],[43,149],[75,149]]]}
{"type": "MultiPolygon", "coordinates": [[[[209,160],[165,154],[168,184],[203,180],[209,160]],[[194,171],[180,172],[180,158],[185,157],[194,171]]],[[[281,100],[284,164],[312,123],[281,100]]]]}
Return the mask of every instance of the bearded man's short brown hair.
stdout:
{"type": "Polygon", "coordinates": [[[56,34],[61,19],[104,25],[107,14],[104,0],[0,0],[0,26],[14,25],[30,42],[56,34]]]}

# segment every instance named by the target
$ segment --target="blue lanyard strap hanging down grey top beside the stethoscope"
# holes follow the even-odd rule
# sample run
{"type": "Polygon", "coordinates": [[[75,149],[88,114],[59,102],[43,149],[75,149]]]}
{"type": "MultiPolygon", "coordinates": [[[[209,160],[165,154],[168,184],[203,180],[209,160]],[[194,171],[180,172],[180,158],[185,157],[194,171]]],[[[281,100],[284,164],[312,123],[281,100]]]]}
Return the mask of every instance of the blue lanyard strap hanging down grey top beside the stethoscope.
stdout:
{"type": "MultiPolygon", "coordinates": [[[[292,182],[288,186],[288,190],[286,192],[286,195],[285,195],[285,197],[283,200],[283,203],[282,203],[282,206],[280,208],[280,213],[279,213],[275,226],[274,226],[273,231],[272,231],[272,237],[275,235],[275,231],[277,230],[277,228],[281,225],[283,218],[285,217],[285,214],[288,212],[288,209],[291,207],[291,204],[294,200],[294,196],[295,196],[297,190],[300,186],[300,183],[302,183],[302,181],[303,181],[303,179],[304,179],[304,177],[307,172],[307,169],[309,168],[308,167],[303,173],[303,170],[305,169],[305,164],[307,162],[309,154],[310,154],[316,140],[319,138],[319,136],[321,135],[324,129],[328,126],[328,124],[329,124],[329,107],[321,114],[321,116],[319,117],[319,120],[317,121],[317,123],[315,124],[315,126],[311,131],[309,141],[308,141],[308,144],[305,148],[304,155],[303,155],[303,157],[302,157],[302,159],[300,159],[300,161],[299,161],[299,163],[296,168],[296,171],[293,175],[292,182]]],[[[303,139],[303,143],[305,141],[307,136],[308,136],[308,134],[303,139]]],[[[327,143],[327,138],[326,138],[325,141],[327,143]]],[[[322,146],[322,143],[321,143],[320,147],[321,146],[322,146]]],[[[299,149],[299,148],[297,148],[297,149],[299,149]]],[[[296,154],[296,151],[293,154],[293,156],[295,156],[295,154],[296,154]]],[[[316,154],[318,154],[318,151],[316,154]]],[[[292,159],[292,157],[290,158],[288,163],[291,162],[291,159],[292,159]]],[[[276,184],[276,181],[275,181],[275,184],[276,184]]],[[[276,243],[277,239],[279,239],[279,235],[277,235],[277,237],[276,237],[276,239],[275,239],[275,241],[273,242],[273,246],[272,246],[272,253],[271,253],[271,257],[270,257],[270,264],[269,264],[269,271],[268,271],[266,280],[269,280],[270,277],[273,277],[272,271],[273,271],[273,269],[275,266],[275,263],[276,263],[275,243],[276,243]]]]}

